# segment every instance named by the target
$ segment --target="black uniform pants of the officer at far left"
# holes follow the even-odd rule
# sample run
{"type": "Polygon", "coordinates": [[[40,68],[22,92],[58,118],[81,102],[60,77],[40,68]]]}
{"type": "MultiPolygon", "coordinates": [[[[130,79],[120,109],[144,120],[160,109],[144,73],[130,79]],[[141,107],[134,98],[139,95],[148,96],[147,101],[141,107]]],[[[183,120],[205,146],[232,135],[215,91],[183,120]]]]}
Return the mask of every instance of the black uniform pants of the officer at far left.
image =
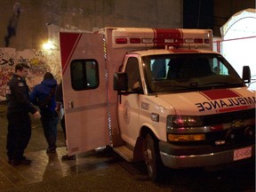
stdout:
{"type": "Polygon", "coordinates": [[[26,112],[7,113],[7,156],[9,160],[21,160],[31,137],[31,119],[26,112]]]}

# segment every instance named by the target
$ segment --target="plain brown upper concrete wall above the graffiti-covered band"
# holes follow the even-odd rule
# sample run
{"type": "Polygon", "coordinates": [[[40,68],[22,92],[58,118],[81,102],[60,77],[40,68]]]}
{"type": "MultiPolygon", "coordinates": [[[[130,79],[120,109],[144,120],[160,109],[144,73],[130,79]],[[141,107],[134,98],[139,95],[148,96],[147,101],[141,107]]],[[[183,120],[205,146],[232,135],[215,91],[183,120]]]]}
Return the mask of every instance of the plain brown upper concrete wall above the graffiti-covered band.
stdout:
{"type": "Polygon", "coordinates": [[[0,47],[41,49],[48,25],[181,28],[182,0],[1,0],[0,47]],[[9,32],[8,32],[9,31],[9,32]],[[9,44],[8,42],[9,41],[9,44]]]}

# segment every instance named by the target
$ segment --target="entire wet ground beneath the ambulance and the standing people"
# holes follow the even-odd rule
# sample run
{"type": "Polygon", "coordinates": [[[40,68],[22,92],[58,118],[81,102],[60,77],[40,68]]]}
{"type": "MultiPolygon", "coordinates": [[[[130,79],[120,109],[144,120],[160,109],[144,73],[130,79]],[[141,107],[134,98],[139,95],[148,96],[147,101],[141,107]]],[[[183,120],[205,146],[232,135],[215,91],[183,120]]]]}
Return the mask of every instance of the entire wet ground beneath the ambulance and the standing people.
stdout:
{"type": "Polygon", "coordinates": [[[148,178],[145,164],[128,163],[111,148],[88,151],[76,160],[61,161],[66,148],[60,127],[57,153],[47,155],[40,121],[32,119],[32,125],[32,137],[25,151],[32,164],[8,164],[6,105],[0,102],[0,192],[255,191],[255,163],[217,172],[167,170],[164,180],[154,183],[148,178]]]}

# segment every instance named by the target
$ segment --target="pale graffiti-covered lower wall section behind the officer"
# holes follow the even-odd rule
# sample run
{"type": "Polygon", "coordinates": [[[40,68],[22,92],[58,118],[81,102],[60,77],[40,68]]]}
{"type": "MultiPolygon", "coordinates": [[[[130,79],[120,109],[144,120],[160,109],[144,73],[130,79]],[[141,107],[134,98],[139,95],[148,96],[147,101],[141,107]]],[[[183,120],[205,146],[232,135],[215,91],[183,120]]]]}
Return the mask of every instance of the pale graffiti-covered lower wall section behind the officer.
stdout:
{"type": "Polygon", "coordinates": [[[30,89],[43,80],[45,72],[52,72],[60,82],[60,52],[27,49],[16,51],[14,48],[0,48],[0,100],[5,100],[7,82],[11,79],[15,65],[24,62],[29,66],[27,84],[30,89]]]}

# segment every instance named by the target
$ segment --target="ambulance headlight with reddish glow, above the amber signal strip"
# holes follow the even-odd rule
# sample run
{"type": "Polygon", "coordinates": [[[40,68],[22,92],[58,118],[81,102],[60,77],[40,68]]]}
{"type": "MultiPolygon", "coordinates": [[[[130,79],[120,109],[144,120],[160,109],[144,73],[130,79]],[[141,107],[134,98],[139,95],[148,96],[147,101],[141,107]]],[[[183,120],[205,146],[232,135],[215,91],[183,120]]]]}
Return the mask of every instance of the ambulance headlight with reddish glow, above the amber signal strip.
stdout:
{"type": "Polygon", "coordinates": [[[195,126],[202,126],[200,116],[167,116],[167,130],[195,126]]]}

